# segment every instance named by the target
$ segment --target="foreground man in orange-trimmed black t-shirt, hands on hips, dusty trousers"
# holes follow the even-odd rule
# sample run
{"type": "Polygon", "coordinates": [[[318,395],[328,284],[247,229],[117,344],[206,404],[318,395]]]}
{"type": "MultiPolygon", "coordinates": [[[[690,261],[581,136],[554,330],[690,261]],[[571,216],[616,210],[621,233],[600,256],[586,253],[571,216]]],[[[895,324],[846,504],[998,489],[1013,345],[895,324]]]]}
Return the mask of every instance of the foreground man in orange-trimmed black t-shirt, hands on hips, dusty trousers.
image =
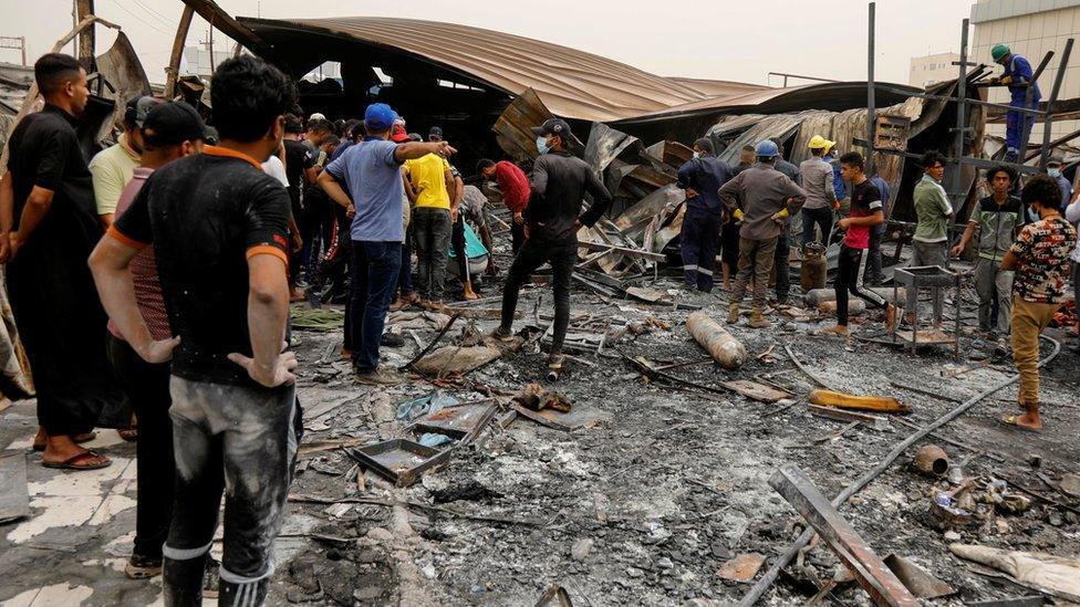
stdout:
{"type": "Polygon", "coordinates": [[[299,442],[293,353],[282,353],[289,195],[260,164],[281,145],[295,87],[261,59],[222,63],[211,86],[220,146],[170,163],[94,250],[112,320],[148,363],[172,357],[176,501],[163,548],[165,601],[201,600],[226,494],[221,604],[261,605],[299,442]],[[153,244],[175,337],[155,341],[128,265],[153,244]]]}

